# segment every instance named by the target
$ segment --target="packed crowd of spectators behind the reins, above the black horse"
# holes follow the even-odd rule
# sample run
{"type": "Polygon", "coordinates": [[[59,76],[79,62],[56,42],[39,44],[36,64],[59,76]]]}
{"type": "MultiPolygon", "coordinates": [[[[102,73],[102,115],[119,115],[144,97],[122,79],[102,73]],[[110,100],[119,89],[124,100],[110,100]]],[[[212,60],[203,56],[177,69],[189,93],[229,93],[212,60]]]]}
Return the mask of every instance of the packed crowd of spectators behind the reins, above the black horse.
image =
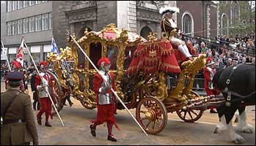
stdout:
{"type": "Polygon", "coordinates": [[[191,38],[190,40],[197,53],[205,53],[217,62],[216,69],[222,69],[233,64],[252,63],[255,64],[255,33],[246,34],[244,37],[236,34],[215,39],[191,38]]]}

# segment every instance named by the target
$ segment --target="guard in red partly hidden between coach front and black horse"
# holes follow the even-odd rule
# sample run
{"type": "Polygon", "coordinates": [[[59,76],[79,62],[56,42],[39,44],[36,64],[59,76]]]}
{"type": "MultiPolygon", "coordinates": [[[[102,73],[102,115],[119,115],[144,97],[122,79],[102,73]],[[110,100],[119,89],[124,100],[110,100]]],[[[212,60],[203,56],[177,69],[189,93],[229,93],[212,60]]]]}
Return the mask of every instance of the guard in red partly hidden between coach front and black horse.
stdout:
{"type": "MultiPolygon", "coordinates": [[[[213,62],[211,57],[207,58],[207,63],[205,68],[204,68],[204,77],[205,77],[205,91],[207,93],[207,96],[211,96],[211,95],[216,95],[219,94],[218,91],[216,91],[215,88],[213,88],[213,82],[211,82],[213,80],[213,76],[216,72],[214,72],[214,64],[216,64],[216,62],[213,62]]],[[[211,113],[217,113],[217,111],[215,109],[211,109],[210,110],[211,113]]]]}

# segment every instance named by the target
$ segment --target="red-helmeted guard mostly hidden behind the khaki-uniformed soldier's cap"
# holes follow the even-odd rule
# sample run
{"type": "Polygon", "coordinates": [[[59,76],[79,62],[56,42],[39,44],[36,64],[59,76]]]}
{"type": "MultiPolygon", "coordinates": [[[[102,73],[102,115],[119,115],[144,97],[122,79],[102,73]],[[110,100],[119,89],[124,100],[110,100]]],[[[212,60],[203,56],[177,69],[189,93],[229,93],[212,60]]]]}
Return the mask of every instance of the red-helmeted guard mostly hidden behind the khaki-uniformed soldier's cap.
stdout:
{"type": "MultiPolygon", "coordinates": [[[[12,61],[12,71],[10,71],[10,72],[20,72],[20,69],[21,69],[21,64],[18,61],[12,61]]],[[[10,72],[7,72],[7,74],[9,74],[10,72]]],[[[6,89],[9,84],[9,80],[7,79],[7,74],[5,74],[5,88],[6,89]]],[[[21,74],[23,74],[23,72],[21,72],[21,74]]],[[[23,74],[23,77],[24,77],[24,74],[23,74]]],[[[21,92],[25,91],[23,80],[21,80],[20,91],[21,92]]]]}

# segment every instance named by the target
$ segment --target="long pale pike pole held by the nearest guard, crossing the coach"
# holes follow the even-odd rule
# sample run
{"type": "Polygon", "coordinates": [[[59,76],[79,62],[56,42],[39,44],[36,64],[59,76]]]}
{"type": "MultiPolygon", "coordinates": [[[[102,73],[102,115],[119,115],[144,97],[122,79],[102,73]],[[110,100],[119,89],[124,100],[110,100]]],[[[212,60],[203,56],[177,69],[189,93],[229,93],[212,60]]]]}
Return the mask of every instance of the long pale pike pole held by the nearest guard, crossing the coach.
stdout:
{"type": "MultiPolygon", "coordinates": [[[[67,29],[66,29],[67,31],[67,29]]],[[[73,38],[73,36],[70,34],[69,31],[67,31],[67,34],[69,34],[69,36],[73,39],[74,42],[76,42],[76,39],[73,38]]],[[[79,47],[79,49],[81,50],[82,53],[84,53],[85,57],[88,59],[89,63],[92,64],[92,66],[94,67],[94,69],[99,73],[99,70],[97,69],[97,67],[93,64],[93,62],[91,61],[91,59],[89,58],[89,56],[87,55],[87,53],[84,52],[84,50],[81,48],[80,45],[78,45],[78,42],[76,42],[76,45],[79,47]]],[[[100,74],[100,77],[102,77],[102,75],[100,74]]],[[[102,77],[103,78],[103,77],[102,77]]],[[[107,81],[103,78],[104,82],[107,83],[107,81]]],[[[117,97],[117,99],[121,102],[122,106],[125,107],[125,110],[131,115],[132,118],[134,118],[134,115],[131,114],[131,112],[128,110],[128,108],[125,106],[125,104],[122,102],[122,100],[119,98],[119,96],[117,96],[117,93],[113,90],[113,88],[111,88],[111,91],[114,93],[114,96],[117,97]]],[[[136,120],[136,118],[134,118],[134,120],[136,121],[136,123],[139,125],[139,122],[136,120]]],[[[139,128],[142,129],[142,131],[147,135],[147,132],[142,128],[141,125],[139,125],[139,128]]]]}

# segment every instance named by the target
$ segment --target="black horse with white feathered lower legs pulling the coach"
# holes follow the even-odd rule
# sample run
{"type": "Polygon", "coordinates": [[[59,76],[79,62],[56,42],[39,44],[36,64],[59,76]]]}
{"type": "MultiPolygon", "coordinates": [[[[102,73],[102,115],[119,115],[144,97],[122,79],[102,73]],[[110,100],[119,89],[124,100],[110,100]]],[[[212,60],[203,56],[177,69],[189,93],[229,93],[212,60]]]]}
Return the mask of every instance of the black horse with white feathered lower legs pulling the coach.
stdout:
{"type": "Polygon", "coordinates": [[[216,108],[219,125],[214,133],[228,131],[236,144],[243,143],[244,138],[235,133],[232,118],[238,110],[238,131],[252,133],[253,128],[246,123],[247,105],[255,105],[255,64],[238,64],[220,69],[213,77],[213,85],[222,92],[225,102],[216,108]]]}

